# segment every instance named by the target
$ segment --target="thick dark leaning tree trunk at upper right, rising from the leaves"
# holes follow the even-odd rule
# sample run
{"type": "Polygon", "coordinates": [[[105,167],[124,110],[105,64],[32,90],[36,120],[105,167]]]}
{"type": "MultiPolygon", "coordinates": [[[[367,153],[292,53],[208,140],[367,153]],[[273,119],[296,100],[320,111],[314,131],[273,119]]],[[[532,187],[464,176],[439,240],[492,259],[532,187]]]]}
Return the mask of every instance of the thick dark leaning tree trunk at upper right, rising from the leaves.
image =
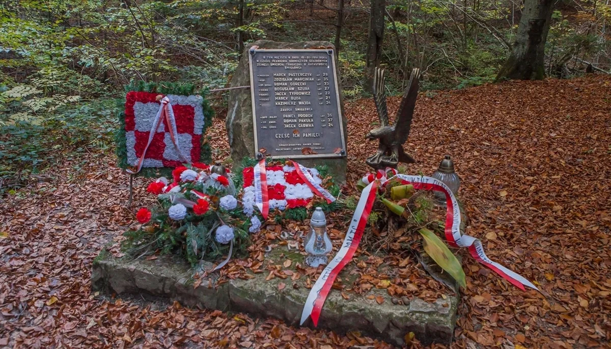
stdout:
{"type": "Polygon", "coordinates": [[[511,54],[496,80],[541,80],[545,77],[543,62],[545,42],[555,0],[526,0],[511,54]]]}

